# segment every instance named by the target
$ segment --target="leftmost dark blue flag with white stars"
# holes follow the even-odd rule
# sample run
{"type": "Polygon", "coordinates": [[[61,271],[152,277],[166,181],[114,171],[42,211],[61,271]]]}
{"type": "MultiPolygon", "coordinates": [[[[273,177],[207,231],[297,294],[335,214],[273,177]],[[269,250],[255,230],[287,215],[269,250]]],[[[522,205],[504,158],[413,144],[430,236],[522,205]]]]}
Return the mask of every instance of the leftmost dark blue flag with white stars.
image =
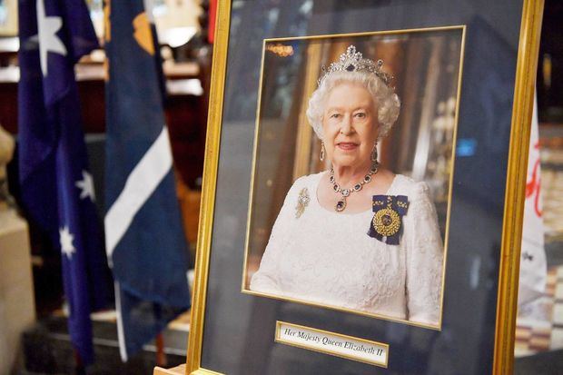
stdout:
{"type": "Polygon", "coordinates": [[[62,252],[69,331],[88,364],[94,360],[90,313],[111,301],[111,275],[95,211],[74,64],[98,43],[82,0],[20,0],[19,38],[22,203],[62,252]]]}

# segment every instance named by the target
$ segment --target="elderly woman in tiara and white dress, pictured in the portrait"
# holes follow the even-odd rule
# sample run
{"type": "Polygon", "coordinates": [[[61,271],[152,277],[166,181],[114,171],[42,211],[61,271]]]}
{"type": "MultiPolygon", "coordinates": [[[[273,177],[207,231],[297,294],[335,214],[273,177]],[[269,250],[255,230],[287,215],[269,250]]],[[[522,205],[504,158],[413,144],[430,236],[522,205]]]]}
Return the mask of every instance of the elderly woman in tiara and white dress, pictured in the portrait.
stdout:
{"type": "Polygon", "coordinates": [[[438,325],[443,248],[429,188],[377,161],[400,110],[381,65],[351,45],[321,77],[307,116],[331,170],[293,183],[250,289],[438,325]]]}

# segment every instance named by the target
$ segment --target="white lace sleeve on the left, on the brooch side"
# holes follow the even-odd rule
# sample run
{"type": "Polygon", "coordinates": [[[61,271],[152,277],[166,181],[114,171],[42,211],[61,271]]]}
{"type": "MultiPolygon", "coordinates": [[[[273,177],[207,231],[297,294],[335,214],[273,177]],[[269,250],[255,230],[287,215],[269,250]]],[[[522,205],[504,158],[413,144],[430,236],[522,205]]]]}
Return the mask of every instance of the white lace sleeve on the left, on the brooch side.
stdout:
{"type": "Polygon", "coordinates": [[[272,227],[270,240],[266,245],[266,250],[260,262],[260,268],[252,275],[250,289],[251,291],[262,291],[265,293],[281,293],[279,282],[279,257],[286,249],[286,243],[290,236],[291,222],[295,219],[295,205],[297,203],[298,179],[291,186],[290,191],[286,194],[283,201],[282,210],[278,214],[276,221],[272,227]]]}

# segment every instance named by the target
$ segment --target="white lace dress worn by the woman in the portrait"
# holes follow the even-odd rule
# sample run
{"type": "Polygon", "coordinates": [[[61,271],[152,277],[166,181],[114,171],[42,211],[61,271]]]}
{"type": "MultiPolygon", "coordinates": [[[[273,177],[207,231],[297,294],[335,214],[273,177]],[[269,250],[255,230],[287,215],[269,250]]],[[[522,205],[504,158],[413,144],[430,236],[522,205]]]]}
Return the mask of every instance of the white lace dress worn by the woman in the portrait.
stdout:
{"type": "Polygon", "coordinates": [[[368,235],[373,212],[321,207],[322,173],[298,179],[285,197],[250,289],[302,301],[438,325],[443,246],[426,183],[398,174],[388,195],[406,195],[399,245],[368,235]],[[310,197],[299,218],[301,189],[310,197]]]}

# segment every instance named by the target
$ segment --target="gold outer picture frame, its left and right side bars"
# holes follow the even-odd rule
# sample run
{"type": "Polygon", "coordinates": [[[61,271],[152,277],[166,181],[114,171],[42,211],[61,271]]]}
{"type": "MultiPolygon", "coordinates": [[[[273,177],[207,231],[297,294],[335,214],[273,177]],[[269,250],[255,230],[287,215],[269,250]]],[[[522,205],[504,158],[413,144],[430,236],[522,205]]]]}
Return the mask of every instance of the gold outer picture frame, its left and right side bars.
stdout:
{"type": "MultiPolygon", "coordinates": [[[[514,5],[517,6],[517,5],[514,5]]],[[[202,367],[202,348],[208,276],[215,212],[215,194],[219,167],[222,131],[222,110],[227,74],[227,51],[231,22],[231,3],[220,1],[217,13],[215,45],[213,47],[212,87],[202,183],[202,208],[198,232],[197,259],[191,332],[188,341],[186,374],[219,374],[202,367]]],[[[529,124],[536,67],[539,33],[543,11],[542,0],[524,0],[519,26],[519,46],[516,61],[512,117],[510,120],[509,155],[507,160],[506,193],[502,220],[502,242],[499,254],[499,284],[496,321],[494,322],[494,352],[491,372],[512,372],[514,330],[519,278],[519,247],[523,218],[524,187],[528,156],[529,124]]]]}

